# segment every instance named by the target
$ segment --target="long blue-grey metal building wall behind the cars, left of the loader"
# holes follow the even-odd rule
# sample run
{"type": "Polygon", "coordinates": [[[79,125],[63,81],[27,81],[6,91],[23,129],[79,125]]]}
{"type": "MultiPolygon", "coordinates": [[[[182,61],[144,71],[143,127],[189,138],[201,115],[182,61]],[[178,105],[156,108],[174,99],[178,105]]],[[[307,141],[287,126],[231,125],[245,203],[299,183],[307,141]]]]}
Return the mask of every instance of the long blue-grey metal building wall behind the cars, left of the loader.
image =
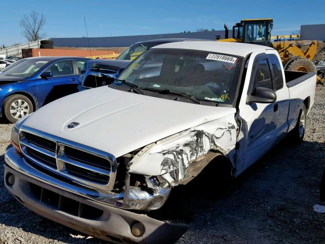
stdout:
{"type": "MultiPolygon", "coordinates": [[[[161,38],[198,38],[215,40],[215,36],[224,38],[224,31],[215,32],[191,32],[174,34],[157,34],[124,37],[91,37],[89,38],[90,47],[128,47],[136,42],[147,41],[161,38]]],[[[232,31],[229,31],[232,36],[232,31]]],[[[87,47],[87,38],[51,38],[56,47],[87,47]]]]}

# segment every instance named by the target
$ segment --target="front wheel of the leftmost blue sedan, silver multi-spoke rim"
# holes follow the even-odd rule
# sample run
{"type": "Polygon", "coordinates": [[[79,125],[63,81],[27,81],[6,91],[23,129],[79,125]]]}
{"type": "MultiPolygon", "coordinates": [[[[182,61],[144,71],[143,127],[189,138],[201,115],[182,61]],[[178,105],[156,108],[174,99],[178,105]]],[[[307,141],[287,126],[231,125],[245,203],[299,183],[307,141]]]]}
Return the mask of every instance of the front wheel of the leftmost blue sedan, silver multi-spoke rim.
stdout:
{"type": "Polygon", "coordinates": [[[34,106],[29,98],[16,94],[5,99],[3,111],[9,122],[16,123],[18,119],[34,111],[34,106]]]}

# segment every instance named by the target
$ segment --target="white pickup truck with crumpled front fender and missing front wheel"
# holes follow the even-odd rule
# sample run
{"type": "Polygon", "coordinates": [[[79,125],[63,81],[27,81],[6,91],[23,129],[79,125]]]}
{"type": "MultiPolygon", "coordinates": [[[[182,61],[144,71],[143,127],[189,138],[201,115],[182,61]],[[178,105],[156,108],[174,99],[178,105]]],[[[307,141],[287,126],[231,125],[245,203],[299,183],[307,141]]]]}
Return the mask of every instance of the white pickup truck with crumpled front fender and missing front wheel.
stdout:
{"type": "Polygon", "coordinates": [[[155,46],[109,87],[19,120],[5,185],[32,211],[89,235],[170,243],[186,228],[146,212],[208,165],[236,177],[284,136],[301,142],[315,86],[314,73],[284,71],[269,47],[155,46]]]}

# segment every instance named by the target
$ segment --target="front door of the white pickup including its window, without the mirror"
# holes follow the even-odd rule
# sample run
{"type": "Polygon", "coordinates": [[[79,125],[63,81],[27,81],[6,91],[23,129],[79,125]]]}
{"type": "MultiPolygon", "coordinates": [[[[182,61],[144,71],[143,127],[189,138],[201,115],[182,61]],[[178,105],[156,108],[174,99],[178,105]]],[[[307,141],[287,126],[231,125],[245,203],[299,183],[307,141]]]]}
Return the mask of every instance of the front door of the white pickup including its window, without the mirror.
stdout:
{"type": "Polygon", "coordinates": [[[239,115],[244,120],[242,126],[245,126],[242,130],[245,134],[244,138],[239,143],[241,150],[246,149],[246,153],[243,154],[241,162],[237,162],[237,165],[241,164],[241,166],[238,165],[236,175],[261,158],[276,143],[277,114],[274,112],[276,103],[246,104],[247,95],[256,85],[273,88],[268,62],[266,53],[256,51],[251,54],[249,62],[246,64],[247,73],[239,103],[239,115]]]}

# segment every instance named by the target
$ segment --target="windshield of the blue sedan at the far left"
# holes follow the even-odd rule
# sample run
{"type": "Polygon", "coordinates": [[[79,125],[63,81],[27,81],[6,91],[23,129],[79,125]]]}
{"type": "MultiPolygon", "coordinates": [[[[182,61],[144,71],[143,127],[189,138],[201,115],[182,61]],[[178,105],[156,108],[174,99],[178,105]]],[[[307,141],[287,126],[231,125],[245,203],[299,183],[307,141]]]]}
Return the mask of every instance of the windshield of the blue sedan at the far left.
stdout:
{"type": "Polygon", "coordinates": [[[30,77],[35,75],[47,62],[46,60],[27,59],[15,64],[15,66],[12,64],[13,67],[2,73],[2,75],[30,77]]]}

